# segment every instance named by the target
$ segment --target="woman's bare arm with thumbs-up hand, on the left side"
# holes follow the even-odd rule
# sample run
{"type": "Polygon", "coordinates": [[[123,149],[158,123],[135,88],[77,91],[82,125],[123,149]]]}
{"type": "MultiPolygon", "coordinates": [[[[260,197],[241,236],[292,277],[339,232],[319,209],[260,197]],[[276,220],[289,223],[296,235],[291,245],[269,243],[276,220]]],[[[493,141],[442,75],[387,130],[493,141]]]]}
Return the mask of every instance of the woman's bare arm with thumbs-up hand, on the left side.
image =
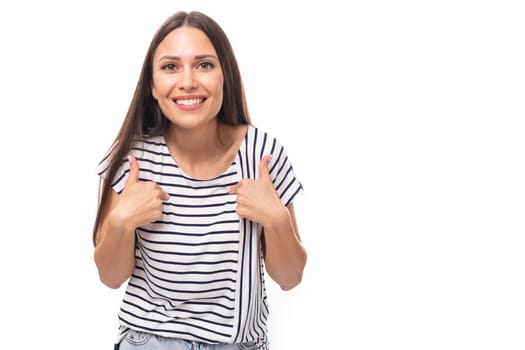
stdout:
{"type": "Polygon", "coordinates": [[[154,182],[139,181],[139,165],[130,157],[130,171],[122,193],[111,191],[96,239],[95,264],[100,280],[119,288],[135,269],[135,229],[162,217],[168,199],[154,182]]]}

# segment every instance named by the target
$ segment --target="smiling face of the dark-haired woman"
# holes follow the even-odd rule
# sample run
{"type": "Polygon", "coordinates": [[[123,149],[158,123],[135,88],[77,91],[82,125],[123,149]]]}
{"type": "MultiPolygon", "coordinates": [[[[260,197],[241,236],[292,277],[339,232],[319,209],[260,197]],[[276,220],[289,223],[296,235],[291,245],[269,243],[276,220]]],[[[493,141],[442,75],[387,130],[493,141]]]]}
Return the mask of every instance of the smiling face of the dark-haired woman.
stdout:
{"type": "Polygon", "coordinates": [[[214,121],[222,106],[224,76],[211,41],[201,30],[173,30],[153,56],[152,94],[177,127],[214,121]]]}

